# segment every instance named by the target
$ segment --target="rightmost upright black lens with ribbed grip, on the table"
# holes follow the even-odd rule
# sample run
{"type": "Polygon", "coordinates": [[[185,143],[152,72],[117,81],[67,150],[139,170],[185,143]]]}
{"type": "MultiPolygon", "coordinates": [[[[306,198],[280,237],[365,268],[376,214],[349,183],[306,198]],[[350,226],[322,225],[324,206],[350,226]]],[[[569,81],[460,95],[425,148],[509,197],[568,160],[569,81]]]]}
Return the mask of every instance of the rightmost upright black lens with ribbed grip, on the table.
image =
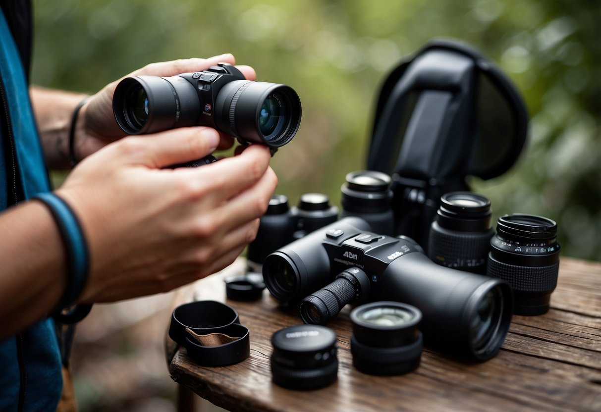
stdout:
{"type": "Polygon", "coordinates": [[[548,312],[560,267],[557,223],[532,214],[505,214],[498,219],[490,245],[487,274],[513,286],[513,313],[548,312]]]}

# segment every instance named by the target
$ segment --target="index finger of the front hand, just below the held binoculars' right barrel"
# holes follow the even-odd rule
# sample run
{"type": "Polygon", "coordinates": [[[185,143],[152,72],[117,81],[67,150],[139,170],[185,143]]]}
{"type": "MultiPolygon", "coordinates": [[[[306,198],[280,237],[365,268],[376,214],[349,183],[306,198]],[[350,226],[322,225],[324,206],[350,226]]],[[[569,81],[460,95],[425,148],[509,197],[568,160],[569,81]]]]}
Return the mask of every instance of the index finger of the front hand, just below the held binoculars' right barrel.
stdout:
{"type": "Polygon", "coordinates": [[[257,183],[270,159],[266,146],[250,145],[240,156],[227,157],[201,169],[181,169],[181,173],[192,176],[189,181],[196,185],[199,196],[211,198],[211,203],[218,205],[257,183]]]}

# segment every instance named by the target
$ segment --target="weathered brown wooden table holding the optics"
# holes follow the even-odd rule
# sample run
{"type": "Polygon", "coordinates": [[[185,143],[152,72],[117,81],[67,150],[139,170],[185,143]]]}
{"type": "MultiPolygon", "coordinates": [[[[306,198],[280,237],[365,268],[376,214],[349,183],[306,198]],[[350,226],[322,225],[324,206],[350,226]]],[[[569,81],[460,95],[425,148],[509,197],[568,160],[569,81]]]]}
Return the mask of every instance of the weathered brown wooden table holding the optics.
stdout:
{"type": "MultiPolygon", "coordinates": [[[[225,300],[223,277],[244,264],[181,289],[177,304],[225,300]]],[[[419,368],[397,377],[373,377],[352,366],[346,308],[329,326],[338,336],[338,380],[309,392],[271,381],[273,332],[302,323],[279,309],[269,292],[260,301],[227,301],[251,330],[244,362],[202,368],[166,338],[171,377],[199,396],[231,411],[601,411],[601,263],[561,258],[551,310],[514,316],[498,356],[466,364],[426,348],[419,368]]]]}

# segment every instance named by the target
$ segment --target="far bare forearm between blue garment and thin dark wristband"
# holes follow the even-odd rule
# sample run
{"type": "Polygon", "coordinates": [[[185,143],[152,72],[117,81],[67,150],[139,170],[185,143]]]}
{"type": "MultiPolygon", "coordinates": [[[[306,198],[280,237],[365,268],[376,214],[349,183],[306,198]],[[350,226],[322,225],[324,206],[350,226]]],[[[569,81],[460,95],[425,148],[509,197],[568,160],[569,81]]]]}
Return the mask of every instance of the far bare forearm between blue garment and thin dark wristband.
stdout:
{"type": "MultiPolygon", "coordinates": [[[[73,109],[86,95],[40,86],[31,86],[29,95],[31,96],[35,120],[40,131],[42,147],[50,169],[70,168],[69,129],[73,109]]],[[[82,111],[79,117],[83,117],[83,115],[82,111]]],[[[78,127],[76,131],[79,132],[79,129],[78,127]]]]}

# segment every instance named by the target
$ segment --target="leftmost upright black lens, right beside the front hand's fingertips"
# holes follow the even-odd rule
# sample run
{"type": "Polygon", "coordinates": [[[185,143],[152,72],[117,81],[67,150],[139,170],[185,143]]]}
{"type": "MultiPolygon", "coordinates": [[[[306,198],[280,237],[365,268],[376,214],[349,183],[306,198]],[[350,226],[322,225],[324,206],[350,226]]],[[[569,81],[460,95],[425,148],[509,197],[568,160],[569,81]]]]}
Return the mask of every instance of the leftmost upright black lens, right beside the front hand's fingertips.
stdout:
{"type": "Polygon", "coordinates": [[[251,270],[261,272],[263,261],[269,253],[292,241],[294,214],[285,195],[273,195],[266,213],[261,216],[257,237],[248,244],[246,258],[251,270]]]}

